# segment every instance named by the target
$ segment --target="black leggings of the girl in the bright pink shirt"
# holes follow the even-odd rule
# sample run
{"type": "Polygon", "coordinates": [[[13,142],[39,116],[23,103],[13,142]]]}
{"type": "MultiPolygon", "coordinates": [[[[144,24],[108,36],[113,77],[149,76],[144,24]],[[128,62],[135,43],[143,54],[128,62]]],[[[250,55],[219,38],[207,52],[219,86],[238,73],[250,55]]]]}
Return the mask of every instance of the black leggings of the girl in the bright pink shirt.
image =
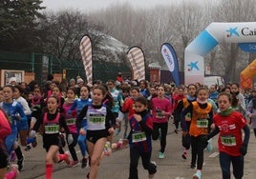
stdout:
{"type": "Polygon", "coordinates": [[[164,152],[166,147],[166,135],[168,130],[168,122],[153,123],[152,139],[157,140],[160,136],[160,152],[164,152]],[[160,131],[159,131],[160,129],[160,131]]]}

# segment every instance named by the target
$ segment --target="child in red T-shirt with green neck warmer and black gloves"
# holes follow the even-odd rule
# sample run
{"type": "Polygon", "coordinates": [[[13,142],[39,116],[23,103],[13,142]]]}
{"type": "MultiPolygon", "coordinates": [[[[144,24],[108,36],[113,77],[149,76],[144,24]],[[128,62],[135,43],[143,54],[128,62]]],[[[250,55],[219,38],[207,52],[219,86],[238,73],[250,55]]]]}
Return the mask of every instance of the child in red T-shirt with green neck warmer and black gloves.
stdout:
{"type": "Polygon", "coordinates": [[[223,179],[231,177],[231,163],[234,177],[241,179],[244,175],[244,156],[247,151],[250,131],[246,125],[244,116],[231,108],[231,100],[232,97],[230,93],[222,92],[219,94],[219,110],[213,117],[213,122],[216,127],[205,140],[220,133],[218,147],[223,179]],[[242,129],[245,131],[244,141],[242,129]]]}

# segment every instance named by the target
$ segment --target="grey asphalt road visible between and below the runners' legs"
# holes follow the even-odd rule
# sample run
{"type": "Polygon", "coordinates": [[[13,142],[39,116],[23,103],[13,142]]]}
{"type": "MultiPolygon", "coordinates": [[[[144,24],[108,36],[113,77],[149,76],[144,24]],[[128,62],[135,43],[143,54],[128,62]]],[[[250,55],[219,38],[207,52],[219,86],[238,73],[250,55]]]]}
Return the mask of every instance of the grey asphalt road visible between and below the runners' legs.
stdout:
{"type": "MultiPolygon", "coordinates": [[[[165,158],[159,159],[160,141],[153,142],[152,161],[156,161],[158,172],[156,179],[189,179],[192,178],[196,169],[190,169],[190,157],[187,160],[181,158],[183,151],[181,147],[181,134],[174,133],[173,125],[169,125],[167,135],[167,146],[165,158]]],[[[122,133],[122,132],[121,132],[122,133]]],[[[116,136],[116,140],[122,136],[116,136]]],[[[44,179],[45,178],[45,155],[46,151],[42,148],[41,136],[37,137],[38,146],[30,151],[25,151],[25,165],[18,178],[21,179],[44,179]]],[[[204,151],[203,179],[222,178],[219,165],[219,153],[217,149],[217,137],[213,139],[213,151],[204,151]]],[[[81,158],[79,149],[76,147],[77,156],[81,158]]],[[[89,171],[88,168],[81,169],[80,166],[67,168],[64,164],[53,165],[53,179],[84,179],[89,171]]],[[[104,157],[98,170],[98,179],[122,179],[128,178],[129,174],[129,148],[113,152],[111,156],[104,157]]],[[[245,155],[245,179],[253,179],[256,176],[256,139],[251,131],[251,138],[248,152],[245,155]]],[[[147,170],[142,168],[139,163],[139,178],[148,178],[147,170]]]]}

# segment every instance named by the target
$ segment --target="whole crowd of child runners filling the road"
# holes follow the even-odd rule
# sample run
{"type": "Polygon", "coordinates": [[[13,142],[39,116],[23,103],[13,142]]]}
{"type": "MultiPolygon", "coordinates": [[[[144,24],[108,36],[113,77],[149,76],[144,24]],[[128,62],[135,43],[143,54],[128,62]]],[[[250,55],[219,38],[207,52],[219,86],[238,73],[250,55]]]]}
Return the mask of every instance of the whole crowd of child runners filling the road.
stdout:
{"type": "MultiPolygon", "coordinates": [[[[151,161],[152,140],[160,141],[159,158],[165,158],[168,123],[181,134],[181,157],[197,169],[191,178],[201,179],[203,152],[211,151],[211,138],[218,134],[220,167],[224,179],[243,178],[249,126],[256,135],[256,90],[225,86],[149,83],[146,80],[96,80],[86,84],[81,77],[39,86],[10,83],[0,88],[0,179],[17,178],[26,159],[23,150],[46,150],[45,177],[51,179],[53,165],[90,168],[87,178],[96,178],[100,160],[113,150],[129,147],[129,179],[139,178],[139,158],[154,178],[157,164],[151,161]],[[244,134],[244,135],[243,135],[244,134]],[[121,139],[114,141],[114,136],[121,139]],[[68,151],[64,151],[67,145],[68,151]],[[77,156],[78,145],[81,156],[77,156]],[[191,156],[190,156],[191,155],[191,156]],[[190,156],[190,157],[189,157],[190,156]]],[[[158,150],[158,149],[157,149],[158,150]]],[[[156,177],[155,177],[156,178],[156,177]]]]}

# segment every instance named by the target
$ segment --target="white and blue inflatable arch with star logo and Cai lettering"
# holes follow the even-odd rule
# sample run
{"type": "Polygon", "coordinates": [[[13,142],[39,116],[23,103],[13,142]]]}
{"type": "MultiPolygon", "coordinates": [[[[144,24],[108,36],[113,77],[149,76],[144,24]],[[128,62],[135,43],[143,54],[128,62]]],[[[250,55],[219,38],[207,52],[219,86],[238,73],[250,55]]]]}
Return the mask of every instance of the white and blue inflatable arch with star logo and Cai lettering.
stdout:
{"type": "Polygon", "coordinates": [[[185,84],[203,84],[206,55],[219,43],[239,43],[242,50],[256,52],[256,22],[211,23],[184,51],[185,84]]]}

